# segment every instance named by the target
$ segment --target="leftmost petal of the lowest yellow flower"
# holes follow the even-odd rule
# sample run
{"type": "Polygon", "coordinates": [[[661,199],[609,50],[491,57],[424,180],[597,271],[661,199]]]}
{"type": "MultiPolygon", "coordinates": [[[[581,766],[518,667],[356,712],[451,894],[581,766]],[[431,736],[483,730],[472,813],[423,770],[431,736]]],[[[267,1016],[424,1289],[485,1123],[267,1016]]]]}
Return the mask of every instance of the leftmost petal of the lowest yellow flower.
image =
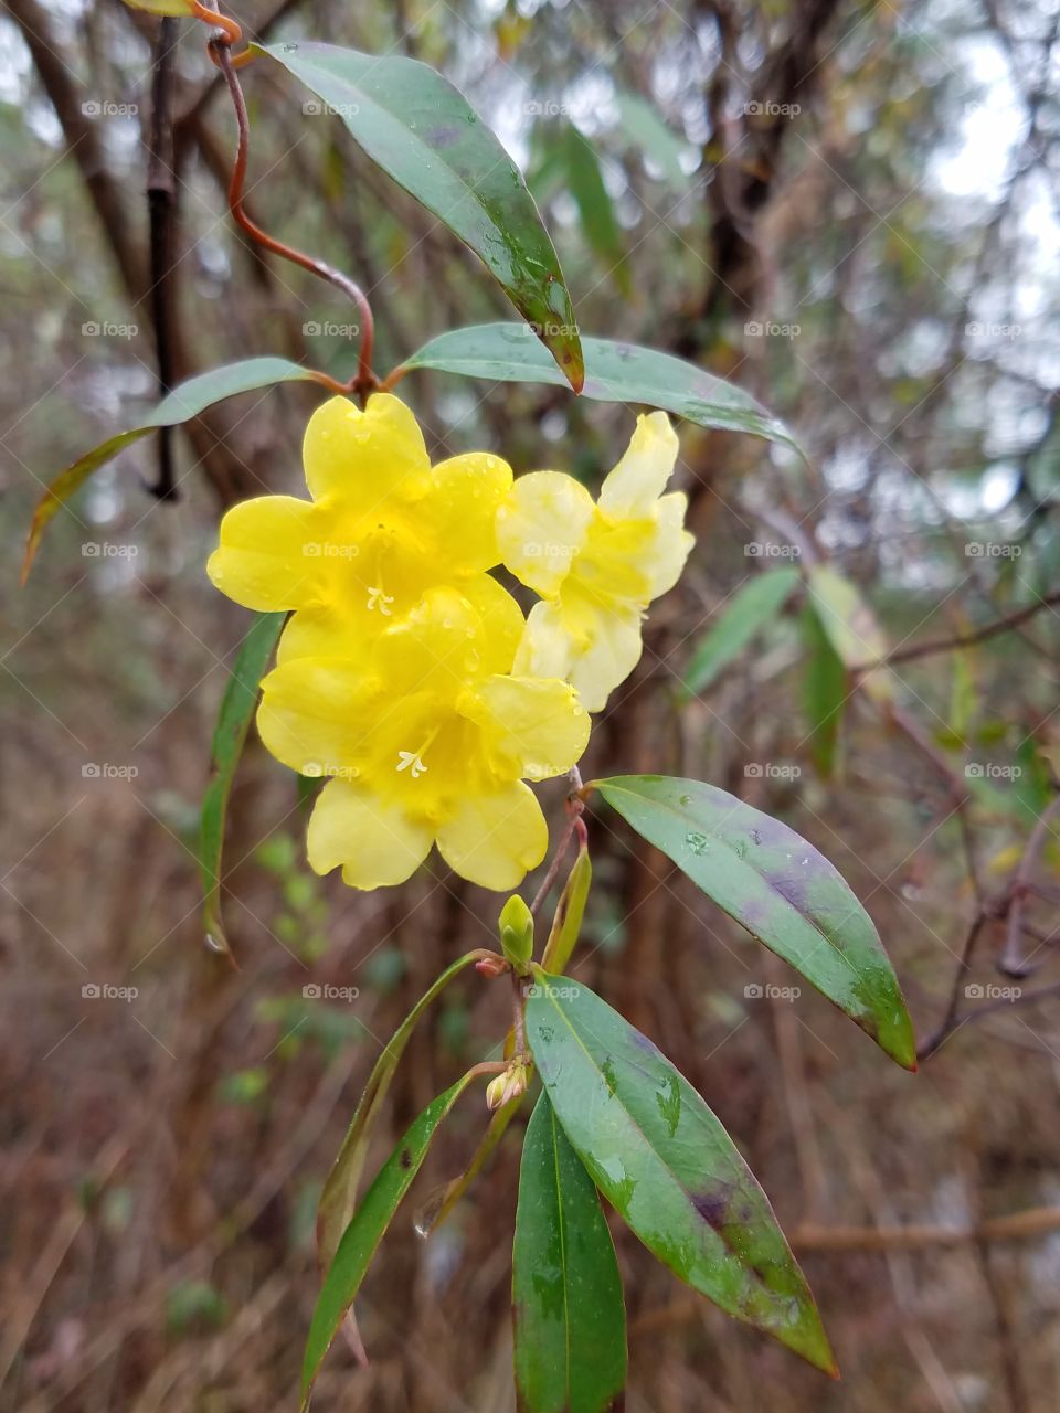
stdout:
{"type": "Polygon", "coordinates": [[[345,658],[298,658],[261,682],[257,731],[277,760],[304,776],[355,779],[379,715],[376,682],[345,658]]]}

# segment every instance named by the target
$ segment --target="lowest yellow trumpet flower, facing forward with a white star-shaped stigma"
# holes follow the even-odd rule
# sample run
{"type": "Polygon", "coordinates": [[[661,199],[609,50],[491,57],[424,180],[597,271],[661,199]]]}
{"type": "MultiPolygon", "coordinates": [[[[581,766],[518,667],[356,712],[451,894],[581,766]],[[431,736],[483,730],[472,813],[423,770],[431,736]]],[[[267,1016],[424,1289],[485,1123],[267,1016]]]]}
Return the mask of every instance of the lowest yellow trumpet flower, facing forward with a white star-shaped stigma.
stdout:
{"type": "Polygon", "coordinates": [[[510,890],[541,862],[547,827],[523,781],[568,770],[589,718],[567,682],[509,675],[522,629],[514,599],[482,575],[476,596],[425,591],[359,653],[288,658],[266,677],[269,750],[334,777],[310,821],[318,873],[401,883],[437,844],[464,877],[510,890]]]}

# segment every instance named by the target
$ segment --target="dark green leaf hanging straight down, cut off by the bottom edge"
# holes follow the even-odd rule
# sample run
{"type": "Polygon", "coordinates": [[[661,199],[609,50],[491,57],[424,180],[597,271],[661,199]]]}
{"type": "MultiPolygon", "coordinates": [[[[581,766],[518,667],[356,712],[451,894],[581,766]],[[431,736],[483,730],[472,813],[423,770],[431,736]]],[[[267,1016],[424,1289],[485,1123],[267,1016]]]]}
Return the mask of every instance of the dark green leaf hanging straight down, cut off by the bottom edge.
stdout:
{"type": "Polygon", "coordinates": [[[596,1188],[543,1094],[523,1143],[512,1314],[519,1413],[613,1413],[626,1307],[596,1188]]]}

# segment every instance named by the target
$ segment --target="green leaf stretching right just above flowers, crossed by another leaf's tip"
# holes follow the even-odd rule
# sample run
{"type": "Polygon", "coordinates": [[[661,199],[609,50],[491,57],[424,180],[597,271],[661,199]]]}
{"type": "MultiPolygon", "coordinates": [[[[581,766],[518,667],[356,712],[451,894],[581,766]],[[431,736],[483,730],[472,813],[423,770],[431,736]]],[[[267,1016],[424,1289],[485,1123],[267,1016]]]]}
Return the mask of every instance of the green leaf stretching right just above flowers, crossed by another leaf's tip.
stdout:
{"type": "MultiPolygon", "coordinates": [[[[581,341],[585,355],[582,396],[596,403],[639,403],[687,417],[700,427],[750,432],[803,455],[787,428],[742,389],[694,363],[639,343],[581,341]]],[[[403,372],[418,367],[493,383],[551,383],[564,379],[522,324],[478,324],[441,333],[414,353],[403,372]]]]}

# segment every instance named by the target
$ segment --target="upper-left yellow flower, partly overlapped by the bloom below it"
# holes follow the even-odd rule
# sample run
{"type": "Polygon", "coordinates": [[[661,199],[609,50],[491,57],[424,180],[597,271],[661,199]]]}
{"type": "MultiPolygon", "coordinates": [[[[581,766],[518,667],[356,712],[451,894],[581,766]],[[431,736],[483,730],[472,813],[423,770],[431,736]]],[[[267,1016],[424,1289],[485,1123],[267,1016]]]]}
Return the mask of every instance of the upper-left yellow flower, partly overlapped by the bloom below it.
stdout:
{"type": "Polygon", "coordinates": [[[228,512],[206,567],[250,609],[297,609],[280,660],[356,651],[438,584],[469,585],[497,564],[496,510],[512,485],[499,456],[469,452],[431,468],[397,397],[362,413],[334,397],[302,448],[312,500],[261,496],[228,512]]]}

